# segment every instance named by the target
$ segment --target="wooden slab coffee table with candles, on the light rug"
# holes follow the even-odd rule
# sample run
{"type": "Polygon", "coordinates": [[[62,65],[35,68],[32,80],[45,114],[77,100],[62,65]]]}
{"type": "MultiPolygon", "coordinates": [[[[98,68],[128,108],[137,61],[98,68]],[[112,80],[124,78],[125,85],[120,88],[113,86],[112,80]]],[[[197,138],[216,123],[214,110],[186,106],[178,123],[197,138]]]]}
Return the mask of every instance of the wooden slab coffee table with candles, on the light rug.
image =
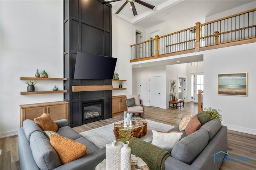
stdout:
{"type": "Polygon", "coordinates": [[[121,137],[120,131],[128,131],[130,129],[130,138],[136,137],[141,138],[148,133],[148,123],[144,119],[132,119],[132,128],[124,127],[124,121],[117,122],[114,124],[114,135],[116,140],[121,137]]]}

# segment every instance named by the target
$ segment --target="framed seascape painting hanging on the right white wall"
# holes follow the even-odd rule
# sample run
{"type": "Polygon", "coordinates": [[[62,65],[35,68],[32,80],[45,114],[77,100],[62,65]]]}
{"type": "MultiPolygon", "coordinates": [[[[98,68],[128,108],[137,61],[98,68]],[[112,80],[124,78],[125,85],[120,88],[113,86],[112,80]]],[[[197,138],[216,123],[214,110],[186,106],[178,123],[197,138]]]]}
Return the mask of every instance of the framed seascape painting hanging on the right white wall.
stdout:
{"type": "Polygon", "coordinates": [[[247,73],[218,74],[218,95],[247,96],[247,73]]]}

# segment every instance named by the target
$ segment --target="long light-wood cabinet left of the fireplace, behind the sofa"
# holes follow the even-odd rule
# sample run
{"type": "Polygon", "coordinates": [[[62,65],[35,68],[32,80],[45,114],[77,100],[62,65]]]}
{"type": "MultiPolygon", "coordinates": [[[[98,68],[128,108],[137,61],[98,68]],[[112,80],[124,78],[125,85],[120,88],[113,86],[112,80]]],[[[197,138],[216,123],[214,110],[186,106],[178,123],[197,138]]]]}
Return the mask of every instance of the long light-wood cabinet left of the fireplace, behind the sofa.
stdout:
{"type": "Polygon", "coordinates": [[[20,127],[23,121],[40,117],[43,113],[50,115],[53,121],[60,119],[68,120],[68,102],[56,101],[47,103],[35,103],[28,105],[20,105],[20,127]]]}

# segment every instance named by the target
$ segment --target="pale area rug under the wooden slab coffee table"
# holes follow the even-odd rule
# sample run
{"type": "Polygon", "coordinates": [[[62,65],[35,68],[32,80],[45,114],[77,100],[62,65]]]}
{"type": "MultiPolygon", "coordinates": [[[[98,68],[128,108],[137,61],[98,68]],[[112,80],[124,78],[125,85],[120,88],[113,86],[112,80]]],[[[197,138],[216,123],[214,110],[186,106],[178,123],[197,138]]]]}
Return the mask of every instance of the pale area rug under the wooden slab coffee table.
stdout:
{"type": "MultiPolygon", "coordinates": [[[[154,122],[147,119],[146,121],[148,122],[148,134],[140,138],[141,140],[144,140],[146,142],[152,140],[152,130],[168,131],[171,128],[173,128],[173,126],[171,125],[154,122]]],[[[92,130],[88,130],[85,132],[81,132],[80,134],[87,138],[88,140],[92,141],[99,148],[103,148],[106,146],[106,144],[111,143],[111,140],[115,140],[113,129],[114,123],[92,130]]]]}

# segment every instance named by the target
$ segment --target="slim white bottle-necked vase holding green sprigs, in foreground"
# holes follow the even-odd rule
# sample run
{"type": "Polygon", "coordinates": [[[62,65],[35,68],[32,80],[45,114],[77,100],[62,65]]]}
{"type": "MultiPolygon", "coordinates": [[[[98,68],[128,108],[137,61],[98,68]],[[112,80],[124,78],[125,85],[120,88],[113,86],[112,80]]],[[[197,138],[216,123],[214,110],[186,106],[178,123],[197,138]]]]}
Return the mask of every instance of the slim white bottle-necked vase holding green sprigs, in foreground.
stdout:
{"type": "Polygon", "coordinates": [[[131,170],[131,148],[129,142],[121,148],[121,170],[131,170]]]}

